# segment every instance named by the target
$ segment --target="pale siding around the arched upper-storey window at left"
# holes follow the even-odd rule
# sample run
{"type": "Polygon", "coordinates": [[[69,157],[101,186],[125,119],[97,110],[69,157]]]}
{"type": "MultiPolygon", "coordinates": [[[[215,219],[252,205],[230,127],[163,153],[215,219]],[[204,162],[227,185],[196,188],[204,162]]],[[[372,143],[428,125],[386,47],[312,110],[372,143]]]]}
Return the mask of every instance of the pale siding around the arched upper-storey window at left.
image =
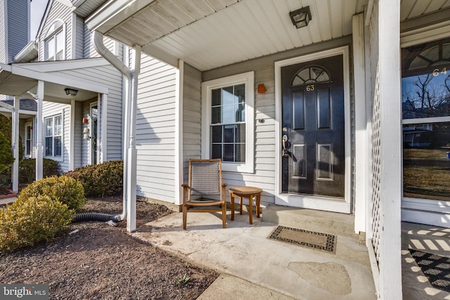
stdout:
{"type": "Polygon", "coordinates": [[[56,20],[60,20],[64,23],[65,27],[65,53],[63,58],[70,60],[72,59],[72,13],[68,6],[60,3],[59,1],[53,1],[53,5],[50,8],[49,14],[47,15],[47,19],[44,23],[44,27],[42,28],[39,36],[39,60],[45,60],[45,40],[46,37],[51,35],[49,30],[51,26],[54,24],[56,20]]]}

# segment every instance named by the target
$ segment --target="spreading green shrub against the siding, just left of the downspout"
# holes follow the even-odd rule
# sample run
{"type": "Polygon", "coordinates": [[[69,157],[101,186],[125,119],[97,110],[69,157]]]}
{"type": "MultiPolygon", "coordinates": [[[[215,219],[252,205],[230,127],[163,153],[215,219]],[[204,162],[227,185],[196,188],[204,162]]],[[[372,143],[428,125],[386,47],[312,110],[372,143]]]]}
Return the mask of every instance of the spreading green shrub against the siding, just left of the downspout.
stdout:
{"type": "Polygon", "coordinates": [[[101,164],[79,167],[65,173],[83,185],[86,196],[104,196],[121,193],[123,190],[124,162],[112,160],[101,164]]]}

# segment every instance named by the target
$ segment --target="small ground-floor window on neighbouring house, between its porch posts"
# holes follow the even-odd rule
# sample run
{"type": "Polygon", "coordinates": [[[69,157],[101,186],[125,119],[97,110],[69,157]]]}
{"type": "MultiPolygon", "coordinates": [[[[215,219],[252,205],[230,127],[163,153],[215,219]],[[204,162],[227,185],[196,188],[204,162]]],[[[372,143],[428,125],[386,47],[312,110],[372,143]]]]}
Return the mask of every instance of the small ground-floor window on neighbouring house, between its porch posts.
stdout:
{"type": "Polygon", "coordinates": [[[56,115],[44,119],[45,156],[62,157],[63,155],[63,116],[56,115]]]}

